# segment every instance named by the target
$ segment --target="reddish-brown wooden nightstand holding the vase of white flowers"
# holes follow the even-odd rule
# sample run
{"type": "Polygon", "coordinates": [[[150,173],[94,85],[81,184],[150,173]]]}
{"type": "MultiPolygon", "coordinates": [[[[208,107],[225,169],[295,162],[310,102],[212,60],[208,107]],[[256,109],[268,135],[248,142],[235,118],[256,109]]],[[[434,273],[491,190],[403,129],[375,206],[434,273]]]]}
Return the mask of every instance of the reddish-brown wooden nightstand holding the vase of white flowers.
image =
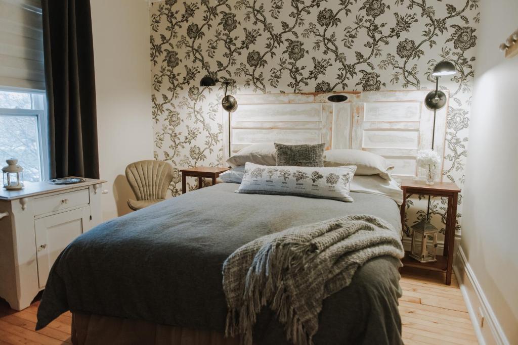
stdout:
{"type": "Polygon", "coordinates": [[[431,269],[432,271],[446,271],[446,284],[450,285],[454,251],[453,242],[455,240],[455,224],[457,220],[457,200],[458,193],[461,189],[459,189],[455,183],[451,182],[436,182],[433,185],[427,185],[424,181],[414,181],[413,179],[403,179],[401,181],[401,189],[403,190],[403,203],[401,204],[402,226],[405,226],[406,201],[412,194],[448,198],[443,255],[438,255],[436,262],[421,263],[410,258],[407,252],[402,262],[405,266],[409,267],[431,269]]]}

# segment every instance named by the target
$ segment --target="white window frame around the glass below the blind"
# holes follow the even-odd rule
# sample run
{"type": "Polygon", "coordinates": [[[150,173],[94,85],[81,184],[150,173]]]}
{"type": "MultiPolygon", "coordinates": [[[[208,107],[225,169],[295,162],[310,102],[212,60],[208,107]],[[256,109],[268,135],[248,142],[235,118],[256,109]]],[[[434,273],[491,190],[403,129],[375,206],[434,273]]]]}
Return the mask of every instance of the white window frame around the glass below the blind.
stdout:
{"type": "Polygon", "coordinates": [[[18,92],[31,95],[31,107],[33,109],[0,108],[0,116],[28,116],[36,117],[38,152],[40,161],[40,181],[50,178],[49,166],[49,131],[47,115],[47,97],[44,90],[0,86],[0,91],[18,92]],[[38,95],[40,97],[34,97],[38,95]],[[39,98],[39,99],[38,99],[39,98]],[[37,108],[37,109],[35,109],[37,108]]]}

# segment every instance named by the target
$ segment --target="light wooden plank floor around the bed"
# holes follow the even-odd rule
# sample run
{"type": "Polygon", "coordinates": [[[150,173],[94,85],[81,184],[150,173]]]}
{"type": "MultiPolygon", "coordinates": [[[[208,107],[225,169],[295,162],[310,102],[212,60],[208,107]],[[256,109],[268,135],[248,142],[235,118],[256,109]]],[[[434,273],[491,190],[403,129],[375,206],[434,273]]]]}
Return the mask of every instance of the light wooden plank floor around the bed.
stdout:
{"type": "MultiPolygon", "coordinates": [[[[401,275],[399,311],[405,344],[477,344],[456,279],[449,287],[443,283],[443,273],[404,268],[401,275]]],[[[38,305],[34,302],[16,311],[0,299],[0,345],[71,343],[69,312],[34,331],[38,305]]]]}

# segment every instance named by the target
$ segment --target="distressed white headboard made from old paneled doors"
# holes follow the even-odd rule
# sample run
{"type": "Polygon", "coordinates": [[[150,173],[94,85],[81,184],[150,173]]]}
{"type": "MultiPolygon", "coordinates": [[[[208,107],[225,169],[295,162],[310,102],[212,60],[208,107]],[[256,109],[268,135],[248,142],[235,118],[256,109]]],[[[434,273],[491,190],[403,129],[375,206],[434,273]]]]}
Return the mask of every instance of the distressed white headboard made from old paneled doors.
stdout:
{"type": "MultiPolygon", "coordinates": [[[[429,90],[234,95],[232,152],[250,144],[326,143],[326,149],[355,148],[389,159],[394,176],[416,176],[419,149],[431,148],[434,112],[426,108],[429,90]],[[333,103],[332,94],[347,101],[333,103]]],[[[435,150],[444,154],[448,104],[437,111],[435,150]]],[[[224,159],[228,153],[228,115],[223,112],[224,159]]],[[[441,159],[442,171],[442,159],[441,159]]],[[[438,177],[440,180],[442,176],[438,177]]]]}

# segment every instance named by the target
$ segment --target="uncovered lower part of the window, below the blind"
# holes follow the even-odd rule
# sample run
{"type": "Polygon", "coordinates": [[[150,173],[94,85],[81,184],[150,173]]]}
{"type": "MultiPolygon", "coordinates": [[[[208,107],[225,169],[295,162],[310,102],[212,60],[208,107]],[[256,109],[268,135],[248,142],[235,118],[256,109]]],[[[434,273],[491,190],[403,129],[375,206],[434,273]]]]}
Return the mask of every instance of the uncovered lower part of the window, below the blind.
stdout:
{"type": "Polygon", "coordinates": [[[17,158],[24,181],[48,178],[45,92],[0,88],[0,166],[17,158]]]}

